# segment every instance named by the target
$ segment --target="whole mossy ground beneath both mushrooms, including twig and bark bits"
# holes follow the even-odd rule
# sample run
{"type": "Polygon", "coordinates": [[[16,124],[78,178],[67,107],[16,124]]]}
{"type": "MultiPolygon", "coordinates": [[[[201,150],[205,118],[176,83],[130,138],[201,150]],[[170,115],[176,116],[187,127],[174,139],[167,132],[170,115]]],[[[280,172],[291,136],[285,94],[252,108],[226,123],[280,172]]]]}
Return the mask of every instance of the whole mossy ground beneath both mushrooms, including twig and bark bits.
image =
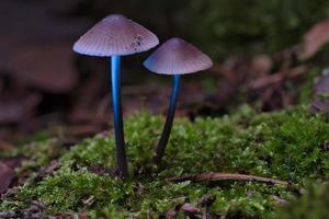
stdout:
{"type": "Polygon", "coordinates": [[[39,134],[1,153],[1,165],[12,169],[0,173],[8,181],[0,218],[325,217],[328,122],[305,105],[178,118],[164,162],[155,165],[163,118],[139,112],[125,119],[126,182],[117,177],[112,131],[78,143],[39,134]]]}

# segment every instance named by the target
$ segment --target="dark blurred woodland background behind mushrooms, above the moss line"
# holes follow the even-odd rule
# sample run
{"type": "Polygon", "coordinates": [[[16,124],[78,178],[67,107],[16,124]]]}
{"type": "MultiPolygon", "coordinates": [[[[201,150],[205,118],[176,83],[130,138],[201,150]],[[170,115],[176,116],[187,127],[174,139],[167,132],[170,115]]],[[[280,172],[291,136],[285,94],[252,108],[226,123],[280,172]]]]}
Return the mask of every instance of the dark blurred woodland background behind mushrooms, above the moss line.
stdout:
{"type": "MultiPolygon", "coordinates": [[[[180,36],[214,61],[183,78],[178,115],[220,116],[310,103],[328,90],[328,0],[1,0],[0,141],[37,135],[84,137],[111,122],[109,60],[73,54],[102,18],[122,13],[158,35],[180,36]],[[47,130],[47,131],[43,131],[47,130]]],[[[151,54],[124,57],[123,107],[167,111],[171,78],[147,71],[151,54]]]]}

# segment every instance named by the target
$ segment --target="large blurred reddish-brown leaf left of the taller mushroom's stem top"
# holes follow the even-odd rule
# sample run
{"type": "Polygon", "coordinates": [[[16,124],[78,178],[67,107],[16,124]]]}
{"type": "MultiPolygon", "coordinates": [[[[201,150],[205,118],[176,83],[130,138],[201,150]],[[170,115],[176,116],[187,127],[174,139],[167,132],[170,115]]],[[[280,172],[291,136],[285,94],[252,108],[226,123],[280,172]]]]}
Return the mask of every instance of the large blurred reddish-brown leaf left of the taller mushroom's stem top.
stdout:
{"type": "Polygon", "coordinates": [[[11,76],[29,87],[50,93],[66,93],[78,82],[78,72],[71,62],[71,43],[24,45],[14,57],[8,64],[13,71],[11,76]]]}

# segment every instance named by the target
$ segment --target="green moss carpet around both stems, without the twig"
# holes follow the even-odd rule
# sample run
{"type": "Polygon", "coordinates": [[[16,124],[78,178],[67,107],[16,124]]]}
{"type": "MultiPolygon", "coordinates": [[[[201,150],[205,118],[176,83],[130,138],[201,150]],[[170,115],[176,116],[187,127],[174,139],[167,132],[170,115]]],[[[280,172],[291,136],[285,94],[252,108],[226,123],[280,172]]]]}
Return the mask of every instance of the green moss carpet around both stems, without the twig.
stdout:
{"type": "Polygon", "coordinates": [[[294,197],[286,187],[234,181],[173,184],[166,178],[227,172],[288,181],[299,188],[322,184],[329,176],[329,152],[324,148],[329,140],[328,120],[328,115],[311,115],[306,106],[258,114],[246,105],[220,118],[177,118],[164,164],[156,166],[151,159],[163,118],[141,112],[125,120],[127,182],[90,171],[92,165],[115,169],[112,134],[83,140],[70,150],[59,148],[56,140],[42,140],[11,152],[33,155],[20,172],[57,158],[59,170],[39,182],[27,181],[0,204],[0,211],[24,208],[36,199],[48,214],[89,210],[93,218],[158,218],[179,204],[197,205],[212,194],[216,200],[211,211],[223,218],[275,217],[280,203],[294,197]]]}

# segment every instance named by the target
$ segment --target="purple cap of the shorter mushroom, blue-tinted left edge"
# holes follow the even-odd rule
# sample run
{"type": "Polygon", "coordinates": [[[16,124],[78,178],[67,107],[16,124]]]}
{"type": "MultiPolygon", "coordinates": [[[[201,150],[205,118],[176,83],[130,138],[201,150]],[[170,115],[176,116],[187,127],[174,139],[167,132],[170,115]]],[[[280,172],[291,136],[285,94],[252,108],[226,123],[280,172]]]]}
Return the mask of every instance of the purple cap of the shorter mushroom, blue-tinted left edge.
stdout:
{"type": "Polygon", "coordinates": [[[160,74],[193,73],[212,65],[208,56],[181,38],[167,41],[144,61],[148,70],[160,74]]]}

